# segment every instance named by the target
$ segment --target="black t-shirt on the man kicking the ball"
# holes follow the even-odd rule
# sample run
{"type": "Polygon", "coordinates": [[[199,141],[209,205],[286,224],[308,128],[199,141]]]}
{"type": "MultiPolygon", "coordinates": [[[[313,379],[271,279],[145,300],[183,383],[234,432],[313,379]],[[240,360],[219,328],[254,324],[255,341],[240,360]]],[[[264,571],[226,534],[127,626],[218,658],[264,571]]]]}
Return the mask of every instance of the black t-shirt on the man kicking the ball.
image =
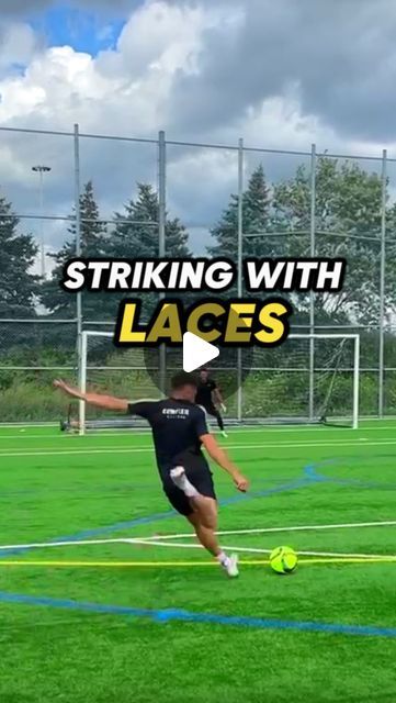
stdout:
{"type": "Polygon", "coordinates": [[[208,434],[208,429],[206,415],[201,408],[185,400],[167,398],[131,403],[128,412],[145,417],[151,426],[157,466],[162,479],[168,479],[170,469],[185,459],[196,461],[199,458],[207,466],[201,451],[200,437],[208,434]]]}

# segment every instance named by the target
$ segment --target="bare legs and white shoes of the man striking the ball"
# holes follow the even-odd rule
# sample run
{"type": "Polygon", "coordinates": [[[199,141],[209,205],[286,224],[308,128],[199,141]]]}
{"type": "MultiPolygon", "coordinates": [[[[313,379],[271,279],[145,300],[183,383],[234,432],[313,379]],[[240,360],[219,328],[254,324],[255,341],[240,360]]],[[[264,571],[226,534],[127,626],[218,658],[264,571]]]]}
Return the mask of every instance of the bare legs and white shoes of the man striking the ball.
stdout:
{"type": "Polygon", "coordinates": [[[225,569],[229,577],[238,576],[238,558],[236,555],[226,555],[218,544],[217,529],[217,502],[214,498],[202,495],[189,481],[183,467],[176,467],[171,471],[173,483],[183,491],[189,499],[193,513],[186,515],[195,529],[201,545],[207,549],[225,569]]]}

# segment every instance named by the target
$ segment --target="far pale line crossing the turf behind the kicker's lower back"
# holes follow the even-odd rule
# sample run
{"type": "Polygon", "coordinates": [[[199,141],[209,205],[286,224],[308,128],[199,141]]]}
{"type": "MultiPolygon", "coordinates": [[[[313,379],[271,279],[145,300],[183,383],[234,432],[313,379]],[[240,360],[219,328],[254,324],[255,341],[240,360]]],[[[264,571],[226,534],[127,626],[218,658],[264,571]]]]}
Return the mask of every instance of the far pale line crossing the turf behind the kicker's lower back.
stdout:
{"type": "MultiPolygon", "coordinates": [[[[227,444],[227,449],[298,449],[309,447],[360,447],[364,442],[364,447],[394,446],[396,439],[385,439],[378,442],[369,442],[365,437],[353,439],[350,442],[293,442],[293,443],[261,443],[261,444],[227,444]]],[[[152,447],[145,446],[142,448],[132,447],[124,449],[115,449],[114,447],[102,447],[101,449],[60,449],[60,450],[34,450],[34,451],[1,451],[0,457],[44,457],[44,456],[70,456],[70,455],[95,455],[95,454],[137,454],[152,451],[152,447]]]]}

